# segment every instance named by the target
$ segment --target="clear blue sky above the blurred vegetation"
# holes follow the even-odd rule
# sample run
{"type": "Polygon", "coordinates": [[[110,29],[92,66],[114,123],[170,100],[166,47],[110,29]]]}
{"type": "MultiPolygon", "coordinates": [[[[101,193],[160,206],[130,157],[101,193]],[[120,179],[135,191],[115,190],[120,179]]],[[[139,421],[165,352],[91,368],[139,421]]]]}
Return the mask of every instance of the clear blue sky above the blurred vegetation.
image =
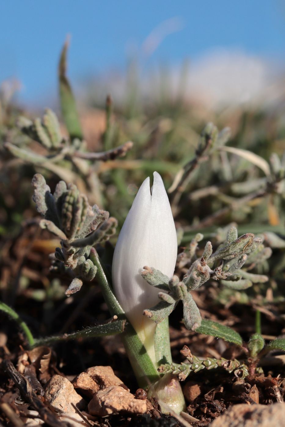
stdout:
{"type": "Polygon", "coordinates": [[[125,70],[136,50],[146,67],[195,61],[217,47],[276,62],[285,57],[284,0],[2,0],[0,10],[0,81],[19,79],[27,104],[56,94],[67,34],[73,82],[125,70]],[[160,44],[143,56],[150,34],[160,44]]]}

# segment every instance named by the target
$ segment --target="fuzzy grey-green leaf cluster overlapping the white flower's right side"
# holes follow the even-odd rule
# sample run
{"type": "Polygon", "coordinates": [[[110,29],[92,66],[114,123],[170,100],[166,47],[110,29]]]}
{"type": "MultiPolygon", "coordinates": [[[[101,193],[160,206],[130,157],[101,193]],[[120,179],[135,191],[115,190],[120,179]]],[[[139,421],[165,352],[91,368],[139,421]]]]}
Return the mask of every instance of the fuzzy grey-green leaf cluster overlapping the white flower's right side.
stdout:
{"type": "Polygon", "coordinates": [[[162,322],[174,310],[177,302],[182,300],[185,326],[189,330],[195,330],[201,325],[201,316],[190,291],[202,286],[209,279],[220,280],[223,285],[235,290],[246,289],[252,286],[252,283],[268,280],[265,275],[248,272],[256,264],[264,262],[272,253],[269,247],[264,247],[261,237],[255,237],[252,233],[238,237],[237,228],[231,227],[226,244],[222,244],[213,254],[212,244],[207,242],[202,257],[195,259],[198,242],[202,239],[201,233],[196,234],[189,250],[178,255],[180,268],[190,265],[182,281],[179,281],[177,276],[170,279],[154,268],[143,267],[143,278],[164,291],[158,294],[161,301],[143,313],[154,322],[162,322]],[[246,268],[241,269],[243,266],[246,268]]]}

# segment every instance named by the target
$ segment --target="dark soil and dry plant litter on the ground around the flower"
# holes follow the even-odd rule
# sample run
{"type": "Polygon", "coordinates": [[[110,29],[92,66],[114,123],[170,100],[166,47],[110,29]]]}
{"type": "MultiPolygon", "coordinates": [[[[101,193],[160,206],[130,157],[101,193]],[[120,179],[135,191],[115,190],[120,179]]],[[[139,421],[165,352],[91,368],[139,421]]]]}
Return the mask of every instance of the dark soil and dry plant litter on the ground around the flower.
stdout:
{"type": "MultiPolygon", "coordinates": [[[[44,235],[46,232],[41,233],[44,235]]],[[[47,237],[47,234],[45,236],[47,237]]],[[[48,242],[48,240],[45,241],[48,242]]],[[[28,242],[29,240],[26,239],[26,246],[28,242]]],[[[58,243],[56,245],[58,246],[58,243]]],[[[11,249],[9,255],[14,262],[16,255],[18,257],[18,252],[16,254],[11,249]]],[[[49,273],[50,262],[46,255],[41,257],[41,252],[33,249],[33,251],[27,252],[25,257],[26,261],[21,270],[21,281],[24,284],[23,278],[25,278],[26,281],[29,281],[29,287],[26,288],[23,285],[19,288],[15,308],[23,313],[30,328],[40,336],[45,331],[43,328],[45,325],[41,323],[43,310],[45,311],[43,306],[45,300],[39,302],[34,296],[38,295],[37,292],[43,293],[43,284],[51,287],[53,281],[56,284],[57,278],[49,273]]],[[[22,262],[22,258],[19,258],[19,261],[22,262]]],[[[13,262],[6,264],[11,266],[8,268],[11,270],[11,277],[14,278],[13,262]]],[[[67,287],[68,281],[68,277],[61,278],[60,286],[63,290],[67,287]]],[[[102,298],[98,295],[98,285],[92,286],[95,291],[92,294],[91,292],[88,294],[86,291],[82,301],[79,297],[74,299],[71,296],[66,303],[65,300],[61,301],[61,298],[57,300],[57,294],[54,295],[54,307],[57,314],[47,325],[51,333],[58,333],[59,330],[72,332],[82,329],[83,325],[93,325],[97,321],[105,322],[110,317],[107,305],[102,304],[102,298]],[[90,295],[92,295],[92,299],[90,295]]],[[[205,290],[193,291],[193,298],[199,305],[202,317],[233,327],[241,333],[244,342],[247,342],[250,335],[254,333],[255,310],[250,309],[252,306],[241,304],[237,300],[231,300],[231,305],[226,308],[223,304],[213,305],[213,298],[218,297],[218,288],[209,284],[207,289],[208,292],[205,290]]],[[[57,288],[55,290],[58,291],[57,288]]],[[[63,292],[62,289],[61,292],[63,292]]],[[[272,307],[270,310],[273,313],[283,311],[282,304],[274,303],[272,307]],[[275,307],[275,311],[272,307],[275,307]]],[[[264,315],[266,316],[266,313],[264,315]]],[[[74,412],[74,408],[68,409],[68,412],[65,413],[59,413],[56,410],[56,414],[41,396],[43,389],[48,387],[48,381],[54,374],[64,374],[73,383],[76,392],[83,397],[86,396],[87,402],[89,398],[93,398],[95,394],[110,386],[120,387],[124,392],[124,388],[128,390],[125,386],[127,384],[131,391],[135,392],[138,385],[120,337],[107,336],[96,339],[95,342],[78,339],[74,342],[58,343],[50,347],[40,346],[29,351],[24,335],[18,326],[11,319],[6,320],[3,314],[0,315],[2,329],[0,331],[0,402],[9,405],[20,422],[24,421],[25,426],[23,427],[38,425],[45,419],[47,419],[45,425],[48,424],[49,427],[63,427],[64,424],[65,427],[67,424],[72,424],[73,427],[84,427],[87,424],[90,427],[88,422],[95,427],[158,427],[160,425],[177,427],[180,425],[177,420],[161,414],[160,406],[155,399],[151,402],[145,399],[145,392],[142,389],[137,390],[134,400],[145,401],[147,409],[143,414],[124,412],[124,409],[122,412],[118,412],[116,408],[112,408],[112,414],[107,415],[106,418],[85,413],[88,421],[80,419],[80,415],[74,412]],[[15,363],[18,372],[12,371],[11,363],[6,367],[8,360],[15,363]],[[86,369],[89,366],[91,368],[86,369]],[[7,374],[12,379],[9,379],[7,374]],[[15,389],[15,385],[18,386],[20,392],[15,389]],[[39,414],[40,418],[33,416],[33,409],[36,409],[34,414],[39,414]],[[73,420],[67,419],[69,416],[73,420]]],[[[201,360],[206,357],[224,357],[227,360],[237,358],[246,361],[248,357],[244,351],[246,346],[240,348],[223,339],[187,330],[180,322],[179,311],[174,313],[169,320],[172,355],[175,361],[185,362],[180,353],[180,349],[184,345],[187,345],[191,352],[201,360]]],[[[269,319],[267,322],[262,322],[262,332],[266,334],[264,339],[272,340],[282,333],[285,334],[283,327],[283,322],[279,322],[276,316],[274,320],[269,319]]],[[[284,355],[276,355],[276,352],[273,352],[268,354],[268,357],[263,357],[258,365],[263,368],[263,373],[262,369],[259,369],[245,379],[235,378],[219,369],[203,370],[193,374],[189,377],[189,381],[182,384],[185,398],[189,402],[187,412],[193,416],[193,419],[188,418],[188,423],[193,427],[208,426],[214,419],[219,420],[220,417],[223,417],[223,414],[226,414],[230,408],[237,405],[240,407],[240,404],[246,404],[246,407],[251,408],[259,407],[260,405],[256,405],[259,402],[263,408],[268,408],[268,405],[283,402],[285,367],[277,357],[284,357],[284,355]],[[195,422],[195,419],[199,419],[199,421],[195,422]]],[[[130,396],[130,394],[128,395],[130,396]]],[[[119,400],[122,401],[122,399],[119,400]]],[[[0,411],[0,427],[2,427],[1,424],[5,427],[13,425],[11,419],[0,411]]],[[[228,427],[227,424],[224,425],[228,427]]]]}

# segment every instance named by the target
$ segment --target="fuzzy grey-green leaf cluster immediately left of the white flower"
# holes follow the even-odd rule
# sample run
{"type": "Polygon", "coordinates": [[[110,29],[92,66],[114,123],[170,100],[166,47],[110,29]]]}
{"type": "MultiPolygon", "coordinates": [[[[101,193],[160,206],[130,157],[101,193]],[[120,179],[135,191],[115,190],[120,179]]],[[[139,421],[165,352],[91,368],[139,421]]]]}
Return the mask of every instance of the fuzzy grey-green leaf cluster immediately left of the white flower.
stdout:
{"type": "Polygon", "coordinates": [[[59,181],[53,195],[41,174],[34,175],[32,184],[36,210],[44,218],[40,226],[61,239],[61,248],[56,248],[54,258],[75,276],[65,292],[69,296],[80,290],[82,279],[91,281],[95,277],[97,267],[89,259],[90,249],[115,234],[117,220],[109,218],[109,212],[97,205],[90,206],[74,184],[59,181]]]}

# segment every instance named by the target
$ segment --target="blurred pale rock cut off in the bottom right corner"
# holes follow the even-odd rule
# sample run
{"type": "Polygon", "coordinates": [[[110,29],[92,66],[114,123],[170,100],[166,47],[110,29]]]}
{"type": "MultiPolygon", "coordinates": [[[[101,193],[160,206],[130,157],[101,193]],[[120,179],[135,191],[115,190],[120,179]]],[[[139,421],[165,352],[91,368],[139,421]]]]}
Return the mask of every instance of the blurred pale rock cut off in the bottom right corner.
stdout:
{"type": "Polygon", "coordinates": [[[238,404],[227,409],[209,427],[284,427],[285,404],[238,404]]]}

